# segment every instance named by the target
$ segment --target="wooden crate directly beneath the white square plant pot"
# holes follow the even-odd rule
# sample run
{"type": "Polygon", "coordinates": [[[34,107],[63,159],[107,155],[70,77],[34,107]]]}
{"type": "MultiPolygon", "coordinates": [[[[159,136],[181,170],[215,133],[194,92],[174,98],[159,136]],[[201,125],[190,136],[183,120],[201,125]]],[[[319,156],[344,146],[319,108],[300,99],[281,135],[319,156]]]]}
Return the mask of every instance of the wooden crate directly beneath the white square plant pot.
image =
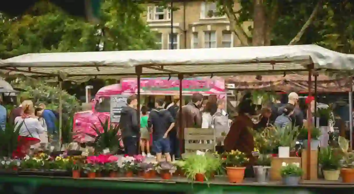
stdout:
{"type": "Polygon", "coordinates": [[[272,158],[272,164],[270,165],[270,180],[272,181],[280,181],[281,180],[281,175],[280,175],[280,169],[282,166],[282,163],[300,163],[301,165],[301,158],[299,157],[289,157],[289,158],[278,158],[278,157],[273,157],[272,158]]]}

